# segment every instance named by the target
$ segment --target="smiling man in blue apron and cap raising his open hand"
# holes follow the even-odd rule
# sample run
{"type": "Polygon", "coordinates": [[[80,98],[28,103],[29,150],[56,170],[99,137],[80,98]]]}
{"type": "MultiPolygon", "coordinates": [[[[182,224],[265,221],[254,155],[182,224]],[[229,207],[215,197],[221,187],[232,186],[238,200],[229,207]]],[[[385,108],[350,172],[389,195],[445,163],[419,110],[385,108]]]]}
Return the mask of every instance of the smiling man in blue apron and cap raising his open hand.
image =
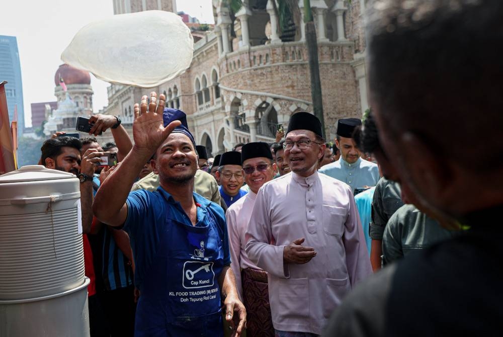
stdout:
{"type": "Polygon", "coordinates": [[[223,210],[193,192],[197,155],[185,114],[176,109],[163,114],[164,95],[157,105],[152,92],[149,102],[143,96],[141,106],[135,104],[135,145],[93,204],[100,221],[123,226],[131,236],[141,292],[135,336],[223,336],[221,301],[240,335],[246,310],[229,267],[223,210]],[[152,153],[159,188],[129,193],[152,153]]]}

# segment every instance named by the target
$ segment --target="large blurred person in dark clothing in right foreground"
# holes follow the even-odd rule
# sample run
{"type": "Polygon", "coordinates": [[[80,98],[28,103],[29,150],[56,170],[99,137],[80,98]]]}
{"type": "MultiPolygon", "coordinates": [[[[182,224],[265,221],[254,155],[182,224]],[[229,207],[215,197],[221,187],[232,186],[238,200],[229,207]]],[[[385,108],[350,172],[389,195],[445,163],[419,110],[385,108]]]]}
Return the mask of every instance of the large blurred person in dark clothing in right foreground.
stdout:
{"type": "Polygon", "coordinates": [[[464,230],[361,284],[326,335],[497,334],[503,59],[473,42],[500,44],[503,2],[382,0],[368,8],[370,101],[388,161],[376,158],[405,195],[464,230]],[[459,135],[470,141],[453,146],[459,135]]]}

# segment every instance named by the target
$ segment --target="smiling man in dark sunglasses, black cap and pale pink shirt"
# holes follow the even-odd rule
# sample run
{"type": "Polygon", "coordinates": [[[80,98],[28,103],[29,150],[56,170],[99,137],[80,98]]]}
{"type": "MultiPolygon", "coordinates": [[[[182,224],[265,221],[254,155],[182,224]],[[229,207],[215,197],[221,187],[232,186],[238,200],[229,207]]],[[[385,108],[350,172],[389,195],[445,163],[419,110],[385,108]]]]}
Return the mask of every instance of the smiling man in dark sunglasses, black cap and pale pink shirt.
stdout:
{"type": "Polygon", "coordinates": [[[241,163],[244,181],[250,191],[230,206],[225,214],[229,233],[231,268],[236,277],[236,285],[241,301],[247,312],[246,335],[248,337],[274,337],[267,273],[251,262],[244,251],[244,234],[251,210],[259,189],[273,180],[276,164],[267,143],[256,142],[242,146],[241,163]]]}

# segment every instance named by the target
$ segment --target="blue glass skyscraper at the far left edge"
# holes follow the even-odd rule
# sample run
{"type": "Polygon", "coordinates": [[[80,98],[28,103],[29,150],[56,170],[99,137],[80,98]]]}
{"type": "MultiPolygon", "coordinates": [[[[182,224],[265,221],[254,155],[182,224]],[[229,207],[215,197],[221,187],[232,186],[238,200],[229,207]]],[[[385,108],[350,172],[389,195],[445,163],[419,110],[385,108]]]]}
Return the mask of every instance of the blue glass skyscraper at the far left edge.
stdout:
{"type": "Polygon", "coordinates": [[[23,83],[19,63],[18,41],[15,36],[0,35],[0,81],[6,80],[5,86],[9,119],[14,119],[14,108],[18,107],[18,136],[25,127],[25,109],[23,106],[23,83]]]}

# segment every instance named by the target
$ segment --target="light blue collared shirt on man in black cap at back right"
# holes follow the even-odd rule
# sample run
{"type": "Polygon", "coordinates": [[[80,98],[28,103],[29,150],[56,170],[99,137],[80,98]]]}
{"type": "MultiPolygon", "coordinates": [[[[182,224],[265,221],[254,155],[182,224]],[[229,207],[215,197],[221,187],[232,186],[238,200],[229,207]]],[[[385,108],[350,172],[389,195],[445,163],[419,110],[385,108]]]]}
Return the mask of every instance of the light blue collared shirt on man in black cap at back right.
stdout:
{"type": "Polygon", "coordinates": [[[341,157],[337,161],[324,165],[318,172],[348,184],[353,193],[356,188],[376,186],[379,181],[377,164],[362,158],[350,164],[341,157]]]}

